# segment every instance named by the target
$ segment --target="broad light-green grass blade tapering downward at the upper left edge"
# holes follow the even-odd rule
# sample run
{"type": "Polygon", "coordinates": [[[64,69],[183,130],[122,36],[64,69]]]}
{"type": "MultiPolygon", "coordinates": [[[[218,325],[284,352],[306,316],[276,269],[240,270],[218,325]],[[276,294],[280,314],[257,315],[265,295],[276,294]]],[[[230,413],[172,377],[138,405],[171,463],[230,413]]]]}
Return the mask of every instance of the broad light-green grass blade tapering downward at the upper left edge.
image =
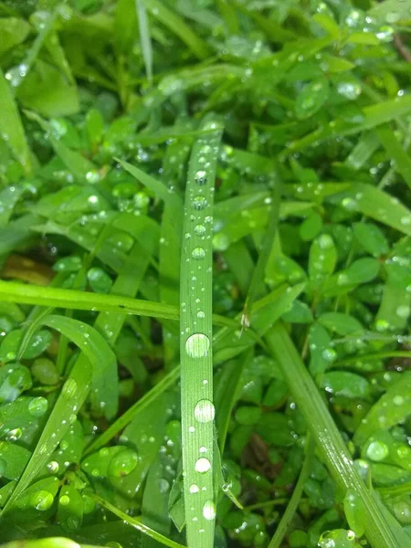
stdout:
{"type": "Polygon", "coordinates": [[[16,101],[12,95],[5,75],[0,69],[0,126],[2,136],[5,138],[11,152],[16,160],[21,163],[25,174],[31,172],[30,150],[26,142],[26,135],[20,115],[17,110],[16,101]]]}

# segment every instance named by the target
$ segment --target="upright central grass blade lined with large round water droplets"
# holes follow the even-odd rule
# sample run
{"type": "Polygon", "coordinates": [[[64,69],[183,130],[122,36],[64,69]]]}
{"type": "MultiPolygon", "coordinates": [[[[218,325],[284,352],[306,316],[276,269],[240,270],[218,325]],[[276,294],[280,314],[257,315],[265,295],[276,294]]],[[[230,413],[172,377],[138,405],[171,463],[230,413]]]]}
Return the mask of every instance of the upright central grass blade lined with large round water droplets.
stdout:
{"type": "Polygon", "coordinates": [[[214,415],[212,340],[212,215],[221,127],[210,116],[191,153],[185,191],[181,260],[181,406],[187,546],[214,545],[214,415]],[[198,162],[200,157],[205,163],[198,162]]]}

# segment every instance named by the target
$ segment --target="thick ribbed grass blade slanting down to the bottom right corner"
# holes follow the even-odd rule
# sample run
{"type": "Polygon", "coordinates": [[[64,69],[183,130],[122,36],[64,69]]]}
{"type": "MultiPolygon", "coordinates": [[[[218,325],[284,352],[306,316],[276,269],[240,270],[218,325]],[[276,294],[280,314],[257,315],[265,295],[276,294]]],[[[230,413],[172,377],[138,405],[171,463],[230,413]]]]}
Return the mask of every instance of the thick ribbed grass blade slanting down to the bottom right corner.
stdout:
{"type": "MultiPolygon", "coordinates": [[[[373,548],[404,548],[411,545],[406,534],[401,539],[387,521],[381,502],[364,485],[332,416],[317,386],[305,368],[290,335],[282,324],[276,324],[266,336],[270,352],[278,360],[284,378],[290,386],[301,413],[305,416],[311,436],[333,479],[342,490],[353,489],[366,509],[365,535],[373,548]]],[[[394,519],[394,518],[393,518],[394,519]]],[[[395,521],[395,520],[394,520],[395,521]]]]}

